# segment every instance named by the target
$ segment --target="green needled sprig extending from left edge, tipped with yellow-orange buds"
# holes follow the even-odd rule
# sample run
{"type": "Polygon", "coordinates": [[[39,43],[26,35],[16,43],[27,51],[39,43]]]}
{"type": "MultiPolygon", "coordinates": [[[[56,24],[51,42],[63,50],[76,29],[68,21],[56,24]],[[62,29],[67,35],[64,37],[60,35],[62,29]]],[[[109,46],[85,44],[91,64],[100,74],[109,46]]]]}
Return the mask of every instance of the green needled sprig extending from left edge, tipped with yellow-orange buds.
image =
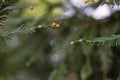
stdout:
{"type": "Polygon", "coordinates": [[[21,35],[21,34],[26,34],[26,33],[33,33],[36,32],[36,29],[56,29],[59,28],[59,24],[55,23],[55,25],[50,25],[50,24],[41,24],[38,26],[31,26],[27,27],[26,25],[22,25],[16,29],[4,29],[4,31],[0,32],[0,37],[11,37],[13,35],[21,35]]]}

